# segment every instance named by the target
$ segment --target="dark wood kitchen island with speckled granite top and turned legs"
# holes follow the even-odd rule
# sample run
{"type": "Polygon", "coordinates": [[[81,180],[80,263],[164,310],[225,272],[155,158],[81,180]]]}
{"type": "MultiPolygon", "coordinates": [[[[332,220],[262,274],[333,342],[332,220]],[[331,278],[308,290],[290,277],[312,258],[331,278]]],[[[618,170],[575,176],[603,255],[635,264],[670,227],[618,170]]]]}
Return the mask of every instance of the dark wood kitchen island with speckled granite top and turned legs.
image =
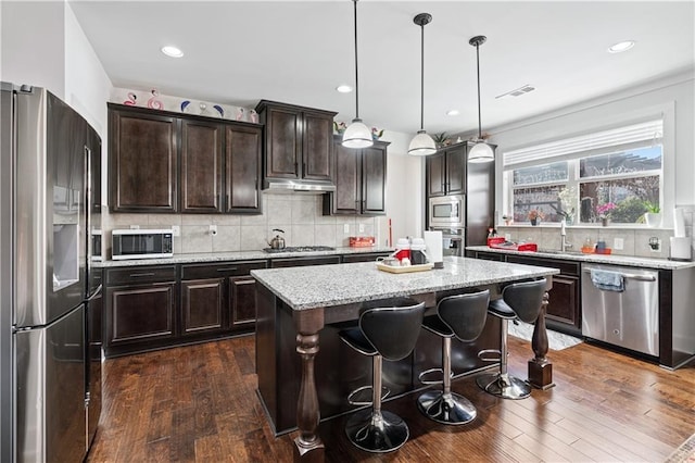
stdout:
{"type": "MultiPolygon", "coordinates": [[[[380,272],[371,262],[252,271],[256,279],[258,395],[273,429],[280,434],[299,427],[295,456],[320,460],[324,446],[316,435],[320,416],[351,410],[346,392],[370,384],[369,360],[352,355],[338,337],[341,327],[356,324],[364,302],[407,296],[424,301],[431,311],[442,297],[472,288],[488,288],[496,298],[503,283],[546,277],[549,289],[552,275],[557,273],[555,268],[454,256],[444,259],[444,268],[406,274],[380,272]]],[[[530,376],[532,362],[538,371],[551,372],[543,320],[539,317],[534,333],[530,376]]],[[[488,318],[477,342],[454,346],[456,373],[491,367],[481,366],[477,352],[481,346],[500,347],[496,317],[488,318]]],[[[384,385],[396,397],[410,392],[420,387],[418,372],[433,366],[440,358],[441,341],[424,333],[409,358],[384,363],[384,385]]]]}

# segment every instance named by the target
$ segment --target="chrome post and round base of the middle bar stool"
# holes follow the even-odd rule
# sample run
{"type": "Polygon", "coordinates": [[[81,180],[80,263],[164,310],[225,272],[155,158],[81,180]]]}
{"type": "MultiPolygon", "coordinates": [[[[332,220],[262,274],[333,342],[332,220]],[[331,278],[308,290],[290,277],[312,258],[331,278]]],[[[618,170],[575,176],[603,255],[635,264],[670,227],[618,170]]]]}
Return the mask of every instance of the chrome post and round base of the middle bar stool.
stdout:
{"type": "Polygon", "coordinates": [[[417,406],[438,423],[459,425],[470,423],[478,412],[470,400],[452,392],[452,338],[442,338],[442,390],[428,390],[417,398],[417,406]]]}

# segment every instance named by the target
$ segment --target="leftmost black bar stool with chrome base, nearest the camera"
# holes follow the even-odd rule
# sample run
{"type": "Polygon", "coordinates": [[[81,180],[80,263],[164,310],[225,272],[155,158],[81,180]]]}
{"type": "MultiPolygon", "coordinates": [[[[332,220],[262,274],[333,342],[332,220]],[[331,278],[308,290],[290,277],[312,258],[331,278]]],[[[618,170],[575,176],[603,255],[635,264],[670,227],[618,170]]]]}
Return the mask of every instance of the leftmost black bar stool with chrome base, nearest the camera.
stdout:
{"type": "Polygon", "coordinates": [[[381,410],[381,361],[405,359],[415,349],[420,334],[425,303],[408,298],[379,301],[379,306],[366,308],[359,325],[339,333],[341,339],[357,352],[371,356],[372,385],[355,389],[348,397],[353,405],[371,405],[371,410],[355,412],[345,424],[352,443],[368,452],[383,453],[399,449],[409,436],[408,426],[394,413],[381,410]],[[355,395],[371,388],[371,401],[355,401],[355,395]]]}

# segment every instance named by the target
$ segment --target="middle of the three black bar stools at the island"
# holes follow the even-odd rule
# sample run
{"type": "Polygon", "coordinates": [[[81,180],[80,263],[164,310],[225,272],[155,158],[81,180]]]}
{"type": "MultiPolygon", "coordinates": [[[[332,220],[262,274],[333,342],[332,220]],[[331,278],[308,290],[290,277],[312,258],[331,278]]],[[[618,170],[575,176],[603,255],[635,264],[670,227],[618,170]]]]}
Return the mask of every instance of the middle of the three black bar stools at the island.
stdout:
{"type": "Polygon", "coordinates": [[[429,390],[417,398],[417,405],[428,418],[438,423],[459,425],[476,418],[470,400],[452,392],[452,338],[464,342],[478,339],[488,317],[490,291],[479,291],[444,298],[437,304],[437,315],[425,317],[425,329],[442,337],[442,367],[430,368],[419,375],[422,384],[443,385],[442,390],[429,390]],[[433,372],[442,372],[441,380],[425,380],[433,372]]]}

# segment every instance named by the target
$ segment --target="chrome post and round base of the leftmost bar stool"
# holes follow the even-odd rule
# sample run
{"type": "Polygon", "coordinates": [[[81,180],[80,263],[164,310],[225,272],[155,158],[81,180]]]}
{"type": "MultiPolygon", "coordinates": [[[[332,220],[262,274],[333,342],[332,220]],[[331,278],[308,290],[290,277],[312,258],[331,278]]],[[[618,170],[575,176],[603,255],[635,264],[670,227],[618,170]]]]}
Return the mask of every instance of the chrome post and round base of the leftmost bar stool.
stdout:
{"type": "Polygon", "coordinates": [[[371,361],[372,406],[355,412],[345,424],[345,434],[357,448],[383,453],[401,448],[409,436],[408,426],[396,414],[381,411],[381,355],[371,361]]]}

